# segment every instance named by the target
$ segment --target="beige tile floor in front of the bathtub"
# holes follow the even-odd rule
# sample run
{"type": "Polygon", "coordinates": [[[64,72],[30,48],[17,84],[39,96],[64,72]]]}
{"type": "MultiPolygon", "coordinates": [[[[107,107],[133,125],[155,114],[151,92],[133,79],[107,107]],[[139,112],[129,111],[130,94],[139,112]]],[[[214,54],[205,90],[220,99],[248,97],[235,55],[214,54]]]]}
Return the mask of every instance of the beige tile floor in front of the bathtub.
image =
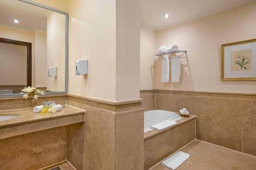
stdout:
{"type": "MultiPolygon", "coordinates": [[[[200,140],[180,149],[190,155],[177,170],[255,170],[256,157],[237,151],[219,147],[200,140]]],[[[161,161],[162,162],[162,161],[161,161]]],[[[169,170],[161,165],[161,162],[153,166],[151,170],[169,170]]]]}

